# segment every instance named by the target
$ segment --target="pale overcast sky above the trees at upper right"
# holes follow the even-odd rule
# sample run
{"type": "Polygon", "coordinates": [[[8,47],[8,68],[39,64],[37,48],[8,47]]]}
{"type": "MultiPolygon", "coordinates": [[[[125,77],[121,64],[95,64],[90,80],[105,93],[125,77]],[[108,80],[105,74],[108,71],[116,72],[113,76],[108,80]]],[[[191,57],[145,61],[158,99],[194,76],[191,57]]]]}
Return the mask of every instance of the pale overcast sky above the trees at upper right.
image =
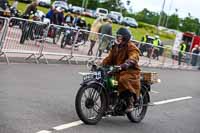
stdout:
{"type": "MultiPolygon", "coordinates": [[[[122,0],[126,2],[127,0],[122,0]]],[[[130,0],[133,12],[141,11],[144,8],[150,11],[160,12],[164,0],[130,0]]],[[[200,19],[200,0],[165,0],[164,11],[174,13],[178,9],[179,17],[184,18],[190,12],[191,16],[200,19]],[[172,3],[172,4],[171,4],[172,3]],[[171,5],[171,10],[170,10],[171,5]]]]}

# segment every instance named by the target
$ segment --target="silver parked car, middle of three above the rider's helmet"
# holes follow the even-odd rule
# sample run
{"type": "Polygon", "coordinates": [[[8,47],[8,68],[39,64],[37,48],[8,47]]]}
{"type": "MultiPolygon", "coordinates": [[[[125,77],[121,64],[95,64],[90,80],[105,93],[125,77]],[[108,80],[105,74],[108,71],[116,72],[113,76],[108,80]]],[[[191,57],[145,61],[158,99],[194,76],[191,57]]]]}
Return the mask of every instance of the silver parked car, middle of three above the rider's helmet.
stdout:
{"type": "Polygon", "coordinates": [[[111,11],[108,17],[113,21],[113,23],[121,24],[123,16],[120,12],[111,11]]]}

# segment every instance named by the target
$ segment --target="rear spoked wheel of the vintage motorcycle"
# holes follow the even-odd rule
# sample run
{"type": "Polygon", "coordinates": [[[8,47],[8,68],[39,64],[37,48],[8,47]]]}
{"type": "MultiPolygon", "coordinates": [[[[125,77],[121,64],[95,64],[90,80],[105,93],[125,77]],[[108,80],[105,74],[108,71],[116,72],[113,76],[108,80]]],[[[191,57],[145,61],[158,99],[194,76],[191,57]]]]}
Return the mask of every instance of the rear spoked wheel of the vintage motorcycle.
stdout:
{"type": "Polygon", "coordinates": [[[127,113],[127,117],[131,122],[139,123],[144,119],[144,116],[147,112],[148,104],[148,92],[141,92],[139,104],[134,108],[130,113],[127,113]]]}

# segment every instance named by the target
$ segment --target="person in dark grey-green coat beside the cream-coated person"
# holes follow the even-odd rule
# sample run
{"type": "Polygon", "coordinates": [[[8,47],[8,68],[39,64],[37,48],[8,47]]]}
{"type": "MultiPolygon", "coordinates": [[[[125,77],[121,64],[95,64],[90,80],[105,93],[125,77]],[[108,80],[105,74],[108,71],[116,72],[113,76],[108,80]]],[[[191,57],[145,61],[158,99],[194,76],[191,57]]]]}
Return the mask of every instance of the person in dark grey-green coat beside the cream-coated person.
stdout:
{"type": "Polygon", "coordinates": [[[102,40],[100,41],[99,44],[99,52],[98,52],[98,57],[101,57],[102,52],[107,49],[109,42],[111,41],[112,36],[112,21],[108,18],[103,19],[104,24],[101,26],[99,33],[101,33],[102,40]],[[106,36],[108,35],[108,36],[106,36]]]}

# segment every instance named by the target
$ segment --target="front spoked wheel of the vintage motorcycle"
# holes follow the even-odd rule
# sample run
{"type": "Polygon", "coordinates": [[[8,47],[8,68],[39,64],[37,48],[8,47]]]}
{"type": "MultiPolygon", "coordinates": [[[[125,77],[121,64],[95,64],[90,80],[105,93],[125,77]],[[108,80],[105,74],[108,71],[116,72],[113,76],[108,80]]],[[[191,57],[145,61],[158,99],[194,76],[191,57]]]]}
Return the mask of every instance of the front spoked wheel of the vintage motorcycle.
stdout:
{"type": "Polygon", "coordinates": [[[105,103],[101,86],[90,84],[79,89],[76,96],[76,112],[85,124],[95,125],[103,116],[105,103]]]}

